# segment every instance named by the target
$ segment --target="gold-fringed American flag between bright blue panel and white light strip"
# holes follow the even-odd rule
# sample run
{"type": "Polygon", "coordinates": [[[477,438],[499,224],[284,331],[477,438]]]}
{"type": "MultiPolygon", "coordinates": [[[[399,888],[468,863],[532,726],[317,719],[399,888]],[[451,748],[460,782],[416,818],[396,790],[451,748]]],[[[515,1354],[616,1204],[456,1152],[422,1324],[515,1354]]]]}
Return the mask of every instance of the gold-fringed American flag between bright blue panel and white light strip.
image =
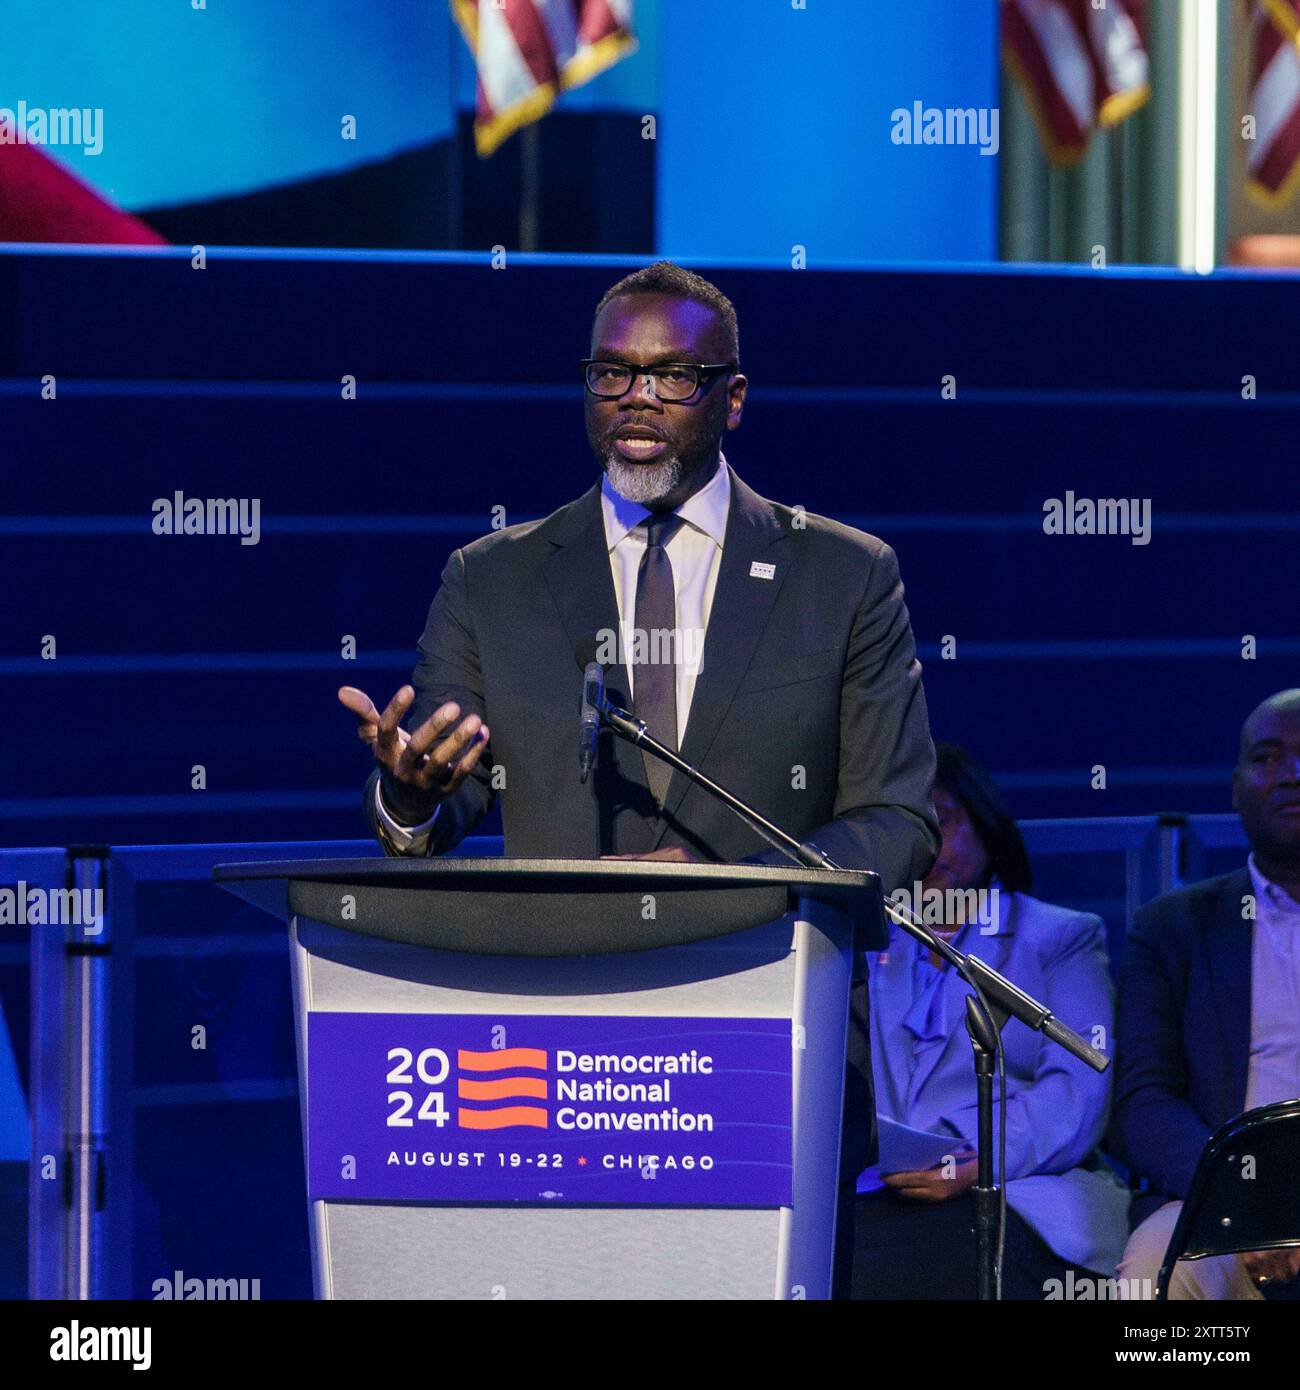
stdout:
{"type": "Polygon", "coordinates": [[[1054,164],[1087,153],[1098,125],[1147,100],[1146,0],[1002,0],[1002,57],[1054,164]]]}

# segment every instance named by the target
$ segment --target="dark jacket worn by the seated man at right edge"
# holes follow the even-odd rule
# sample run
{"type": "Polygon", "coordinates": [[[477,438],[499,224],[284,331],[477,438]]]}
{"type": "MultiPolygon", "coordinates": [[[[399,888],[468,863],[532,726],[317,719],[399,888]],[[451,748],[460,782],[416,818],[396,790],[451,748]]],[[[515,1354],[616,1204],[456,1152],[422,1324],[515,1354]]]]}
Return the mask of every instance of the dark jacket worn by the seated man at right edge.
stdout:
{"type": "Polygon", "coordinates": [[[1136,1226],[1187,1195],[1205,1141],[1246,1106],[1253,923],[1249,869],[1148,902],[1119,972],[1111,1141],[1150,1191],[1136,1226]]]}

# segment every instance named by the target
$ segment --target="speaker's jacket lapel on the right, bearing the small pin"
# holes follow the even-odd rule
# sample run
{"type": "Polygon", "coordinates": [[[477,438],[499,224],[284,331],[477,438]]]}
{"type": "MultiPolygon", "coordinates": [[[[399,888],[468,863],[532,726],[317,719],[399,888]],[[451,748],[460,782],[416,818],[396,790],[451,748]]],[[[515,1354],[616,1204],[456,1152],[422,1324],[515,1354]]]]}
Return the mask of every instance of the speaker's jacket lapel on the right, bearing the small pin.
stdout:
{"type": "MultiPolygon", "coordinates": [[[[691,713],[681,745],[681,756],[697,767],[704,762],[736,698],[736,688],[754,657],[786,578],[786,564],[781,563],[779,550],[786,532],[776,513],[752,488],[740,481],[730,466],[729,473],[731,506],[727,531],[705,634],[704,663],[691,696],[691,713]],[[776,564],[773,578],[752,577],[749,569],[755,560],[776,564]]],[[[687,787],[690,781],[681,773],[673,773],[655,835],[656,845],[687,787]]]]}

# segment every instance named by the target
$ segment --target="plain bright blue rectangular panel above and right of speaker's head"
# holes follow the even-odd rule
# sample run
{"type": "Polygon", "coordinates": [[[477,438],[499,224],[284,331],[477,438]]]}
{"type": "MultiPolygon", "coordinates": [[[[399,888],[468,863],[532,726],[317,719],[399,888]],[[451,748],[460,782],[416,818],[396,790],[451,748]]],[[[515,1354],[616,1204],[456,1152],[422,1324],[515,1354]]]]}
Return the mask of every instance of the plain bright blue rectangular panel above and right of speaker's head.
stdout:
{"type": "Polygon", "coordinates": [[[895,110],[998,107],[998,7],[665,0],[656,246],[676,259],[993,261],[998,160],[895,110]]]}

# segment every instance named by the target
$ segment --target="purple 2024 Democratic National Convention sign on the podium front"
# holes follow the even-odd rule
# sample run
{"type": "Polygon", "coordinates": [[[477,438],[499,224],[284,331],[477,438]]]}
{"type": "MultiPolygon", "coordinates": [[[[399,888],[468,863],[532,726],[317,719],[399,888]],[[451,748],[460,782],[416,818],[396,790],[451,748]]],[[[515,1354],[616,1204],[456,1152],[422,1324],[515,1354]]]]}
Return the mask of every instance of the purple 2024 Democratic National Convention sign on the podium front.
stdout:
{"type": "Polygon", "coordinates": [[[788,1019],[311,1013],[311,1201],[788,1207],[788,1019]]]}

